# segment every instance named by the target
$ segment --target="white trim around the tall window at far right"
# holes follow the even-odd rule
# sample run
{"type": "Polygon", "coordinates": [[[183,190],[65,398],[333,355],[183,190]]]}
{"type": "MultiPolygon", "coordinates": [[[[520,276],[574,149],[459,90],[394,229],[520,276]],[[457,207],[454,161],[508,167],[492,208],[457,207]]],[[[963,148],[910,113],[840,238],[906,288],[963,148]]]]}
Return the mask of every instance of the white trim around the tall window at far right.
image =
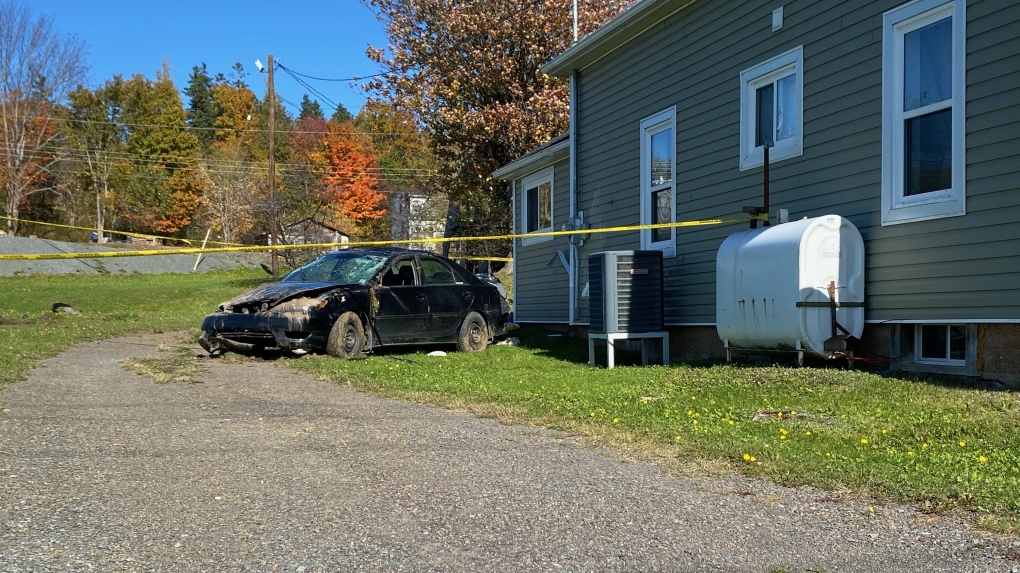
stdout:
{"type": "Polygon", "coordinates": [[[964,113],[966,2],[918,0],[885,12],[882,22],[882,224],[967,214],[964,113]],[[903,37],[953,17],[953,188],[904,196],[903,37]]]}

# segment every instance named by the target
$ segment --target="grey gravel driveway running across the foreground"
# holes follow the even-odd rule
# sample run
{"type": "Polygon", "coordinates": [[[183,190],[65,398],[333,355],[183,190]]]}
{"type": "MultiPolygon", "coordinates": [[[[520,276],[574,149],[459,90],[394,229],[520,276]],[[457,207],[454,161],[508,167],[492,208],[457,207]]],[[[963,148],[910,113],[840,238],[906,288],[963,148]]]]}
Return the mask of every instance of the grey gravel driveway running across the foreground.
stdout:
{"type": "Polygon", "coordinates": [[[0,571],[1020,571],[1015,539],[903,507],[671,477],[268,362],[121,367],[160,343],[4,392],[0,571]]]}

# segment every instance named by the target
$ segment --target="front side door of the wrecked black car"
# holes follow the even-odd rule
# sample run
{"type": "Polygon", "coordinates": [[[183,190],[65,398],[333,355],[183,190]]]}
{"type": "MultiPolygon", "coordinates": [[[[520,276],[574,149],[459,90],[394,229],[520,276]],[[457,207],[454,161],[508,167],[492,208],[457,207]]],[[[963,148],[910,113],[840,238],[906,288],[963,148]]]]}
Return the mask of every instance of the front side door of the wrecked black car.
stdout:
{"type": "Polygon", "coordinates": [[[381,345],[428,338],[428,296],[414,257],[394,261],[375,289],[375,333],[381,345]]]}

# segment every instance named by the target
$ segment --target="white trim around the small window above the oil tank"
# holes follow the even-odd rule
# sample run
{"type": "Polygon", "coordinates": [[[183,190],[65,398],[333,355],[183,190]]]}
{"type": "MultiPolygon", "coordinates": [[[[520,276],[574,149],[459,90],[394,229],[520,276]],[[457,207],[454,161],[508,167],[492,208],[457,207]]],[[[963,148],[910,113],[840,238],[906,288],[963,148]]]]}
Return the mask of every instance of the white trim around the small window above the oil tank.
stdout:
{"type": "Polygon", "coordinates": [[[797,135],[776,142],[769,148],[769,163],[804,155],[804,46],[783,52],[754,67],[741,72],[741,170],[761,167],[765,164],[762,147],[755,146],[757,121],[758,88],[794,74],[797,89],[795,100],[800,113],[797,114],[797,135]]]}

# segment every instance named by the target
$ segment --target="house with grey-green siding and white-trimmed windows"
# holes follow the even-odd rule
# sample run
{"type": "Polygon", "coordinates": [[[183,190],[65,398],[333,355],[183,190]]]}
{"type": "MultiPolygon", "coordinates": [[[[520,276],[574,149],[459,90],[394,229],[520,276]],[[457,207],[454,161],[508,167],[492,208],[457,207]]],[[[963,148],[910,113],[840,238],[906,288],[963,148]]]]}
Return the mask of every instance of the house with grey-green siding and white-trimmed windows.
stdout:
{"type": "Polygon", "coordinates": [[[641,0],[544,71],[570,132],[495,174],[515,232],[592,232],[514,242],[519,322],[586,325],[589,255],[658,250],[670,355],[722,355],[716,257],[747,223],[598,229],[740,216],[768,143],[772,223],[864,239],[858,355],[1020,381],[1020,3],[641,0]]]}

